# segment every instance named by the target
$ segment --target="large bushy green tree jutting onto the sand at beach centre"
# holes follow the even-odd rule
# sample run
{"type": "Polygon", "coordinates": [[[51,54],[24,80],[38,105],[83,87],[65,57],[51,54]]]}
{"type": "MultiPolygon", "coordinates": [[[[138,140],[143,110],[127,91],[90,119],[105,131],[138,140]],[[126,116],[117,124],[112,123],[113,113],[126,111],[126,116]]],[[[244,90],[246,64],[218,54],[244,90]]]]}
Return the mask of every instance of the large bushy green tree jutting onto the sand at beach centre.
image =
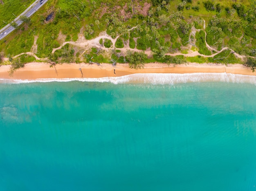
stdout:
{"type": "Polygon", "coordinates": [[[129,60],[130,68],[143,68],[144,63],[146,62],[147,55],[144,52],[135,52],[128,50],[126,54],[126,58],[129,60]]]}

